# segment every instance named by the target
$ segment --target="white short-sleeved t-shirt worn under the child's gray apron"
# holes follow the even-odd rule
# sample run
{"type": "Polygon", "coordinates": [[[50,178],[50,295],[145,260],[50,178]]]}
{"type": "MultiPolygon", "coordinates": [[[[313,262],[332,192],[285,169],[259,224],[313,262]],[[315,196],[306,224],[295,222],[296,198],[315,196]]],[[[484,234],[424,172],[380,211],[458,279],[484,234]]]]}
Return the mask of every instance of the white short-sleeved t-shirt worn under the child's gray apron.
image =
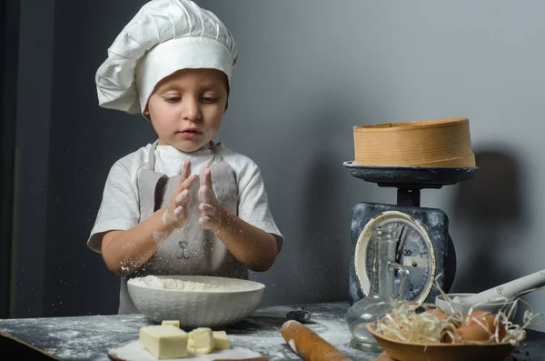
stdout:
{"type": "MultiPolygon", "coordinates": [[[[110,169],[98,216],[87,240],[87,246],[95,252],[101,251],[104,232],[127,230],[138,224],[140,210],[137,179],[140,170],[147,165],[151,146],[148,144],[130,155],[125,155],[110,169]]],[[[223,160],[233,168],[238,188],[237,216],[275,235],[279,246],[282,246],[282,234],[272,219],[259,167],[249,157],[235,153],[221,143],[217,146],[223,160]]],[[[192,173],[198,175],[201,165],[209,163],[213,157],[210,148],[183,153],[172,145],[157,145],[154,154],[154,171],[167,176],[180,175],[186,159],[191,160],[192,173]]]]}

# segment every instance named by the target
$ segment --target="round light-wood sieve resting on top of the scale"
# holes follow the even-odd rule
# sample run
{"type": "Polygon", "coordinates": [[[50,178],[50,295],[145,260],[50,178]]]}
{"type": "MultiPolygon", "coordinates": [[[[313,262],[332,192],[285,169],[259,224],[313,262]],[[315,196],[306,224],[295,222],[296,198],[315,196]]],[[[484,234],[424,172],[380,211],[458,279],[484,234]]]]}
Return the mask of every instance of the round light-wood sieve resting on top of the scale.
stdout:
{"type": "Polygon", "coordinates": [[[468,118],[358,125],[353,133],[354,164],[475,166],[468,118]]]}

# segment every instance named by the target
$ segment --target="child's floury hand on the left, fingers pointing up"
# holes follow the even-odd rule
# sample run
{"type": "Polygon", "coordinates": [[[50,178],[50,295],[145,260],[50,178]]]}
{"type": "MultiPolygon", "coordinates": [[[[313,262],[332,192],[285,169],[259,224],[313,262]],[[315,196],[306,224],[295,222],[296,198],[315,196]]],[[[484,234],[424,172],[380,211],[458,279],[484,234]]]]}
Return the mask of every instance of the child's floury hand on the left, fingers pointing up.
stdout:
{"type": "Polygon", "coordinates": [[[189,188],[193,186],[195,178],[196,176],[191,174],[191,161],[183,162],[182,177],[163,213],[165,226],[180,228],[187,223],[189,218],[189,188]]]}

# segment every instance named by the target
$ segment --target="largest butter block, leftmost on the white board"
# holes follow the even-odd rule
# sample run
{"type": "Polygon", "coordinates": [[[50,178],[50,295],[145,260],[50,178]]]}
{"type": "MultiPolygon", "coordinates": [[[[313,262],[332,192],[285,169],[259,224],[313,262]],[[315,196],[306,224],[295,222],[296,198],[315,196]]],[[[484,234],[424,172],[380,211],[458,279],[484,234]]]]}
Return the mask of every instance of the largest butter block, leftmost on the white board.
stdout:
{"type": "Polygon", "coordinates": [[[187,356],[187,334],[172,325],[153,325],[140,328],[140,342],[156,358],[187,356]]]}

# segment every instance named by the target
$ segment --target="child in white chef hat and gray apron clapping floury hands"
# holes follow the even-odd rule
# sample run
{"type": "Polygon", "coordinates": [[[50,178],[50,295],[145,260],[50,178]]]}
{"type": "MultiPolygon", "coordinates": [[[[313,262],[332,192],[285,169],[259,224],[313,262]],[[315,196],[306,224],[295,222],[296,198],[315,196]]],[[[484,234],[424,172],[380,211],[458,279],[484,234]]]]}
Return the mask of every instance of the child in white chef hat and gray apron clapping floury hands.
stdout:
{"type": "Polygon", "coordinates": [[[134,313],[129,277],[246,278],[265,271],[283,238],[259,167],[213,142],[238,59],[233,36],[187,0],[152,0],[96,73],[99,104],[141,113],[157,140],[118,160],[87,245],[121,276],[119,313],[134,313]]]}

